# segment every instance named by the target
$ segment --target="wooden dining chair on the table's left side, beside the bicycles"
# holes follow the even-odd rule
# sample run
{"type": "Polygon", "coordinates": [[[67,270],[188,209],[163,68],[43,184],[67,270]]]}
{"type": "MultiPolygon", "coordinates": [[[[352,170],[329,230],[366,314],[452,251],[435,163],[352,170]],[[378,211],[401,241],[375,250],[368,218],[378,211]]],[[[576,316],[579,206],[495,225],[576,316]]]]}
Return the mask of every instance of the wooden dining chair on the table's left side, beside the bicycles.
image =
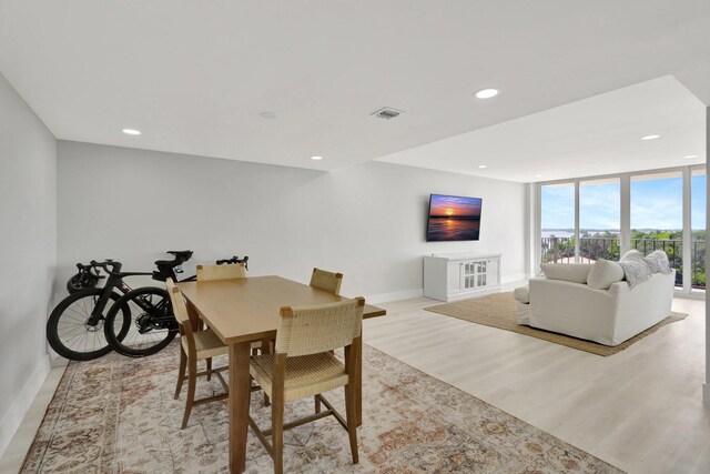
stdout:
{"type": "Polygon", "coordinates": [[[203,403],[216,402],[229,396],[227,385],[221,374],[221,372],[227,370],[229,366],[212,369],[212,364],[210,364],[205,371],[197,372],[197,361],[212,361],[212,357],[227,354],[229,347],[220,341],[220,337],[211,329],[207,327],[202,331],[193,330],[190,315],[187,314],[187,306],[185,305],[185,301],[182,297],[180,289],[175,285],[172,279],[168,279],[165,283],[168,285],[170,301],[173,305],[173,313],[180,324],[181,351],[175,400],[180,396],[183,382],[187,380],[187,397],[185,400],[185,412],[182,417],[181,426],[181,428],[184,430],[185,426],[187,426],[187,421],[190,420],[190,413],[192,412],[193,406],[201,405],[203,403]],[[186,375],[185,369],[187,370],[186,375]],[[195,400],[197,377],[206,375],[207,380],[210,380],[212,374],[219,379],[225,393],[195,400]]]}

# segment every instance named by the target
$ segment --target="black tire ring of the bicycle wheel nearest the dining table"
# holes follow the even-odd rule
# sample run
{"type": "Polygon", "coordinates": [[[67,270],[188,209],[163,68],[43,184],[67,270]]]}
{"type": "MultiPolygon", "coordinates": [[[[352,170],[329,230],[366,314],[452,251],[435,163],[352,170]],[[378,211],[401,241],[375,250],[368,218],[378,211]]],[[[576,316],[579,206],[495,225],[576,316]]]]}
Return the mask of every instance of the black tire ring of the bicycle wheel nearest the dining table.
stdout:
{"type": "Polygon", "coordinates": [[[165,302],[165,304],[168,304],[168,313],[170,315],[172,315],[172,305],[170,304],[170,295],[168,294],[168,292],[164,289],[160,289],[156,286],[144,286],[144,288],[139,288],[135,290],[131,290],[130,292],[125,293],[123,296],[121,296],[121,299],[119,301],[115,302],[115,304],[113,305],[113,307],[115,307],[115,311],[113,310],[113,307],[111,307],[111,310],[109,310],[108,314],[106,314],[106,321],[104,324],[104,332],[105,332],[105,337],[109,341],[109,344],[111,345],[111,347],[113,347],[114,351],[116,351],[119,354],[129,356],[129,357],[144,357],[146,355],[153,355],[160,351],[162,351],[163,349],[165,349],[168,346],[168,344],[170,344],[172,342],[173,339],[175,339],[175,335],[178,335],[178,323],[175,322],[175,327],[174,329],[170,329],[165,332],[165,337],[161,341],[159,341],[156,344],[154,345],[150,345],[143,349],[136,349],[136,347],[131,347],[129,345],[123,344],[124,337],[126,336],[128,333],[128,329],[133,326],[133,314],[131,313],[131,301],[133,299],[135,299],[136,296],[146,294],[146,293],[152,293],[152,294],[156,294],[163,297],[163,301],[165,302]],[[122,325],[122,334],[115,334],[114,331],[114,319],[115,315],[118,313],[118,310],[122,306],[126,306],[129,307],[129,313],[130,313],[130,323],[126,327],[125,324],[122,325]],[[126,331],[124,331],[126,330],[126,331]]]}

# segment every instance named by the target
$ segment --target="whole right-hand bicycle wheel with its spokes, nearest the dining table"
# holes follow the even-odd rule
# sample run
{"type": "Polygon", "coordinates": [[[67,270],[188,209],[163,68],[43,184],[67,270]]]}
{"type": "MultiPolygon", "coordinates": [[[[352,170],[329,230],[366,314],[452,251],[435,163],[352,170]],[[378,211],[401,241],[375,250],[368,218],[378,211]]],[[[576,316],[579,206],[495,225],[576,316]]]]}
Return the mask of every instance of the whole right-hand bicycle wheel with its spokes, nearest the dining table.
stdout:
{"type": "Polygon", "coordinates": [[[160,288],[139,288],[125,293],[109,310],[104,325],[109,344],[130,357],[143,357],[163,350],[179,331],[168,292],[160,288]],[[128,307],[130,322],[121,307],[128,307]]]}

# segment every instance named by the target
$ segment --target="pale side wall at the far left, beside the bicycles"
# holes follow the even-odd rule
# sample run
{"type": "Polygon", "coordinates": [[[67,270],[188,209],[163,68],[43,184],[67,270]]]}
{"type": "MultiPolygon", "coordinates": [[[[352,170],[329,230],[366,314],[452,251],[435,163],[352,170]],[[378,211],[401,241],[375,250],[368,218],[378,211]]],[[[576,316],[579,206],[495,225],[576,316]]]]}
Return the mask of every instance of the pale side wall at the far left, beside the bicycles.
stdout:
{"type": "Polygon", "coordinates": [[[49,373],[57,141],[0,74],[0,455],[49,373]]]}

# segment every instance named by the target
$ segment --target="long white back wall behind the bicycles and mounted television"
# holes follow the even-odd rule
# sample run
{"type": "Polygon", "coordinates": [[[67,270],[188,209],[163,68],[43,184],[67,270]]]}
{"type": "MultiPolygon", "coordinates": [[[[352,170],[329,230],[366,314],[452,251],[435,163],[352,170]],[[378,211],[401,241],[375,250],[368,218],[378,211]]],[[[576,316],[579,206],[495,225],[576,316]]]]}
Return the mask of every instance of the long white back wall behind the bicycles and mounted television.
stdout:
{"type": "MultiPolygon", "coordinates": [[[[248,254],[250,274],[307,281],[345,274],[369,301],[422,294],[424,254],[503,253],[503,280],[526,273],[519,183],[368,162],[329,173],[77,142],[58,148],[59,280],[79,261],[148,269],[169,249],[192,265],[248,254]],[[484,199],[478,242],[425,241],[429,193],[484,199]]],[[[185,270],[192,270],[185,265],[185,270]]]]}

